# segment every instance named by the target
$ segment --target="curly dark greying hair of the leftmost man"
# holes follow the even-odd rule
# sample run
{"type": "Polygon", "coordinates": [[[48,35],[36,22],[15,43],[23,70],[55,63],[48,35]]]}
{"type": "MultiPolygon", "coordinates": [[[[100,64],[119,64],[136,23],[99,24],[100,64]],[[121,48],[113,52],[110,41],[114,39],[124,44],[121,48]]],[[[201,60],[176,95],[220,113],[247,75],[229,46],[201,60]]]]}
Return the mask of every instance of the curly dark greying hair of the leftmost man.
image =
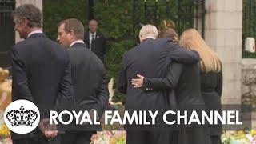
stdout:
{"type": "Polygon", "coordinates": [[[42,12],[32,4],[18,6],[12,16],[18,22],[22,22],[24,17],[27,18],[29,27],[42,27],[42,12]]]}

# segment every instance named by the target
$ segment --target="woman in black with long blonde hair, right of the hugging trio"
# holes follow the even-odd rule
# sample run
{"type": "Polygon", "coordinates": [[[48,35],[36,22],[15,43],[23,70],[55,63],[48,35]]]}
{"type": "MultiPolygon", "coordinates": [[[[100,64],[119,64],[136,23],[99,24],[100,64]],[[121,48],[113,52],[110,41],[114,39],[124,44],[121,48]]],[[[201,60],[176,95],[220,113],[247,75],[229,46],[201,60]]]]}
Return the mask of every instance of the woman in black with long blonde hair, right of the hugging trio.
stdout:
{"type": "MultiPolygon", "coordinates": [[[[201,91],[208,110],[221,110],[222,63],[218,55],[210,49],[202,36],[194,29],[182,33],[181,44],[189,50],[198,51],[202,59],[199,63],[201,91]]],[[[221,134],[222,126],[210,128],[211,143],[220,144],[221,134]]]]}

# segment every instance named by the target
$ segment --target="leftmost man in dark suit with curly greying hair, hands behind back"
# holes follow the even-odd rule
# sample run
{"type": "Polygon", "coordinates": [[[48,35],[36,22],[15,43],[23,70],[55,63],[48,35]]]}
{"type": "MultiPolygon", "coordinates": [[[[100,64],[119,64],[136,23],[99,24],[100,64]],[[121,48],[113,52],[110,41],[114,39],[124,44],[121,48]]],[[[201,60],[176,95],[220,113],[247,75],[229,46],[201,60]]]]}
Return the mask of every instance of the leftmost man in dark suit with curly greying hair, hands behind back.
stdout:
{"type": "MultiPolygon", "coordinates": [[[[25,40],[11,50],[12,99],[34,102],[41,118],[47,118],[49,110],[73,98],[70,59],[62,46],[42,33],[42,14],[37,7],[19,6],[13,16],[14,30],[25,40]]],[[[56,135],[55,130],[41,132],[37,128],[29,134],[12,133],[11,138],[14,144],[58,144],[56,135]]]]}

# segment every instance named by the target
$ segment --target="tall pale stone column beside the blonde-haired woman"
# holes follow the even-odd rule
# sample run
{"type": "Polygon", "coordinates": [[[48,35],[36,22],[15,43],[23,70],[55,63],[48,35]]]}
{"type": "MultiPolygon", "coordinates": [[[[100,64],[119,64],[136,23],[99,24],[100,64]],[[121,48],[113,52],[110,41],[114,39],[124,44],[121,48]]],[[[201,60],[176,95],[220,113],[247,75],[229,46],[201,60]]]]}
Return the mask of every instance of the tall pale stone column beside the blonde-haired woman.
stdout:
{"type": "Polygon", "coordinates": [[[222,103],[241,103],[242,0],[206,0],[205,39],[223,66],[222,103]]]}

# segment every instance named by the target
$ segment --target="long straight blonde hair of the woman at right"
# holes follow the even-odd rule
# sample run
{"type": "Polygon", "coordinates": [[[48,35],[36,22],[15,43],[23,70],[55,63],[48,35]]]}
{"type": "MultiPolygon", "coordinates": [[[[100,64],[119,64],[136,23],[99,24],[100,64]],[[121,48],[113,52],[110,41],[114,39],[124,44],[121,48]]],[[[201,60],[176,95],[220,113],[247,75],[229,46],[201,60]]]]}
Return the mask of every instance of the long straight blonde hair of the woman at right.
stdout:
{"type": "Polygon", "coordinates": [[[222,63],[214,50],[211,50],[197,30],[189,29],[182,33],[180,43],[189,50],[198,51],[202,61],[199,63],[202,72],[220,72],[222,63]]]}

